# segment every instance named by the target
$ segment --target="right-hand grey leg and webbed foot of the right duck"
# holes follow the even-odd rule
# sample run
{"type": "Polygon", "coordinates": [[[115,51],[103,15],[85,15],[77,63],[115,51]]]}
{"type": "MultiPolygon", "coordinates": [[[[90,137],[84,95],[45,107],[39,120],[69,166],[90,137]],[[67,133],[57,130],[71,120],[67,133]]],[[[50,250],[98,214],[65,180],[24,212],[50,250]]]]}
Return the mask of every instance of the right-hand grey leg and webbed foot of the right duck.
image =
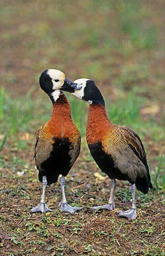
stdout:
{"type": "Polygon", "coordinates": [[[136,198],[135,198],[135,193],[136,193],[136,187],[135,184],[131,185],[131,193],[132,193],[132,208],[126,211],[119,211],[118,216],[124,216],[126,218],[129,218],[131,220],[135,220],[137,217],[136,214],[136,198]]]}

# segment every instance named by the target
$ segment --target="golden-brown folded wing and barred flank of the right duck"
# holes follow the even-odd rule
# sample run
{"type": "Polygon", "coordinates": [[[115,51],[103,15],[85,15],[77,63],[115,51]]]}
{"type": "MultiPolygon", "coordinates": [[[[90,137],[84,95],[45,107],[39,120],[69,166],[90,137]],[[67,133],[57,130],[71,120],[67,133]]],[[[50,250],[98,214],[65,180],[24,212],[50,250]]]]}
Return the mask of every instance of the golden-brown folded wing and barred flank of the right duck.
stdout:
{"type": "Polygon", "coordinates": [[[102,142],[104,152],[112,158],[114,167],[135,183],[137,177],[147,176],[148,168],[143,144],[134,134],[128,128],[114,125],[102,142]]]}

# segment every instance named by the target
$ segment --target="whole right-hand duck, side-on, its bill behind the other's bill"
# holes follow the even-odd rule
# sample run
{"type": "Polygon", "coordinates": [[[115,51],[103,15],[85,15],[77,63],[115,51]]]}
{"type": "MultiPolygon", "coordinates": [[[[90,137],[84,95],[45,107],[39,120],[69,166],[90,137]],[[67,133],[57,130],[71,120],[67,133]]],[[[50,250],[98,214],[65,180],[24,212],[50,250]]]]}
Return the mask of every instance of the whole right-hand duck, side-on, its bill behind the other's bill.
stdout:
{"type": "Polygon", "coordinates": [[[92,209],[114,209],[115,179],[126,180],[132,184],[132,208],[119,211],[119,216],[136,219],[135,187],[144,194],[148,193],[149,188],[152,189],[142,141],[131,129],[109,121],[105,101],[94,81],[82,78],[74,82],[82,88],[74,89],[74,93],[73,89],[70,92],[89,103],[86,141],[91,155],[99,168],[112,180],[108,204],[92,209]]]}

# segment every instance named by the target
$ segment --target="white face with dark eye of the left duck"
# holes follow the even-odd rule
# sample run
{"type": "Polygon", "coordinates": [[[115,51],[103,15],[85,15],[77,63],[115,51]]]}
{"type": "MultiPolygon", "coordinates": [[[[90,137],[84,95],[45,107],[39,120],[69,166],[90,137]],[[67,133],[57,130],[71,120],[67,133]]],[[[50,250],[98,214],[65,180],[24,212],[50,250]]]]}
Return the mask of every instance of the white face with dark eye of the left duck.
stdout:
{"type": "Polygon", "coordinates": [[[66,76],[62,71],[50,68],[47,70],[47,74],[52,80],[53,90],[58,90],[64,85],[66,76]]]}

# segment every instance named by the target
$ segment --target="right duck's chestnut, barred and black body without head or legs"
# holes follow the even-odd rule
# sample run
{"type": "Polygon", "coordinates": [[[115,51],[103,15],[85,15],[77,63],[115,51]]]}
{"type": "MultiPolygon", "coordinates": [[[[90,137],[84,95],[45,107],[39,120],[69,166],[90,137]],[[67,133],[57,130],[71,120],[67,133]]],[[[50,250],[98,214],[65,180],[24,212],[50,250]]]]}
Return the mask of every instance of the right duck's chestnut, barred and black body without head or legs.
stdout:
{"type": "Polygon", "coordinates": [[[90,105],[86,140],[92,157],[109,177],[135,183],[143,193],[152,188],[142,141],[131,129],[109,121],[105,106],[90,105]]]}

